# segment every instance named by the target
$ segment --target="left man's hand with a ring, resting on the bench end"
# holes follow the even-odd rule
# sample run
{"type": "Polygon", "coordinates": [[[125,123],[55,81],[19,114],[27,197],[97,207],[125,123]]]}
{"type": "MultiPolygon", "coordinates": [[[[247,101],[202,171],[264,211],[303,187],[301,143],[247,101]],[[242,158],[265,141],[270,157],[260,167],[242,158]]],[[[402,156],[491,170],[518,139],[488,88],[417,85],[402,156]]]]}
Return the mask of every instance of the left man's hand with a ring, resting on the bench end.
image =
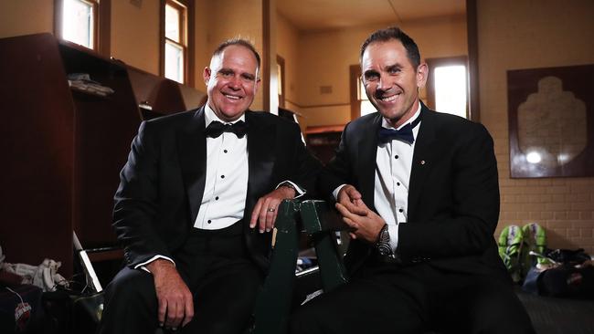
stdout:
{"type": "Polygon", "coordinates": [[[276,221],[276,214],[282,200],[288,200],[295,197],[295,190],[291,187],[280,186],[276,190],[260,197],[258,203],[251,213],[249,227],[254,228],[260,224],[260,233],[270,232],[276,221]]]}

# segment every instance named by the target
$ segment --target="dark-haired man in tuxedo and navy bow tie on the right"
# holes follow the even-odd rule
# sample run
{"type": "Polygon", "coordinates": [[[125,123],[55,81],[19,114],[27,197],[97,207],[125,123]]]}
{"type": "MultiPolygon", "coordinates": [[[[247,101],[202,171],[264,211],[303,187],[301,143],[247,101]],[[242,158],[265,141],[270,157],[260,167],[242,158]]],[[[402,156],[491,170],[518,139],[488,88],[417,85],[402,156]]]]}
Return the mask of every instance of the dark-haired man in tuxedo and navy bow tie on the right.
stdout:
{"type": "Polygon", "coordinates": [[[374,114],[349,123],[321,175],[350,226],[350,281],[313,298],[292,333],[532,333],[497,255],[499,185],[481,124],[419,101],[428,76],[398,27],[361,47],[374,114]]]}

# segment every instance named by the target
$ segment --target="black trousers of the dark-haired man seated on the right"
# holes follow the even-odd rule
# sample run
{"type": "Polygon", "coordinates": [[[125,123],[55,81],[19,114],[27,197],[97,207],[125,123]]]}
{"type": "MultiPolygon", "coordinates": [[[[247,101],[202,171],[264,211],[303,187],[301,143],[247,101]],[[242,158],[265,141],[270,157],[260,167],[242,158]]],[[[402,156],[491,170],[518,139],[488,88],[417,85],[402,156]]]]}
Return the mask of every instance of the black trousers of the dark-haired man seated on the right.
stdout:
{"type": "Polygon", "coordinates": [[[447,274],[426,265],[366,266],[291,319],[292,334],[534,333],[504,279],[447,274]]]}

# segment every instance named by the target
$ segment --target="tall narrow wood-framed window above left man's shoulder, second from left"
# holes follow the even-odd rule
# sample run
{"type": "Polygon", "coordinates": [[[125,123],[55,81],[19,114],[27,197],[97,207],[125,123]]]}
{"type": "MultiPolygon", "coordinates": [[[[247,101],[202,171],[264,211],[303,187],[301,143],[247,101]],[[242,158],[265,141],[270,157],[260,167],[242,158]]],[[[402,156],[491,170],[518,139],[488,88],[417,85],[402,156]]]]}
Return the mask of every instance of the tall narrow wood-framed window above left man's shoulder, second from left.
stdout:
{"type": "Polygon", "coordinates": [[[192,31],[191,20],[193,1],[164,0],[163,11],[163,53],[162,74],[179,83],[192,81],[192,61],[189,56],[188,41],[192,31]]]}

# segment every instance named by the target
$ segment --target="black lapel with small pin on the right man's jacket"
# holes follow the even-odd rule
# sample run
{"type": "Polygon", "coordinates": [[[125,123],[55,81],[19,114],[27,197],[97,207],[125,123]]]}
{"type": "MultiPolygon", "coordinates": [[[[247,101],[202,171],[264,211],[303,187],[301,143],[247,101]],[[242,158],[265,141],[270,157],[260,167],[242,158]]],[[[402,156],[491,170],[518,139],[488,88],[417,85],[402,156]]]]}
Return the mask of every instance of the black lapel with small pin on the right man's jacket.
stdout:
{"type": "Polygon", "coordinates": [[[412,168],[410,171],[410,181],[408,186],[408,220],[416,212],[419,197],[427,180],[427,175],[432,168],[432,162],[437,152],[432,148],[435,140],[435,120],[431,112],[421,103],[421,121],[419,124],[419,133],[415,143],[415,151],[412,156],[412,168]]]}

